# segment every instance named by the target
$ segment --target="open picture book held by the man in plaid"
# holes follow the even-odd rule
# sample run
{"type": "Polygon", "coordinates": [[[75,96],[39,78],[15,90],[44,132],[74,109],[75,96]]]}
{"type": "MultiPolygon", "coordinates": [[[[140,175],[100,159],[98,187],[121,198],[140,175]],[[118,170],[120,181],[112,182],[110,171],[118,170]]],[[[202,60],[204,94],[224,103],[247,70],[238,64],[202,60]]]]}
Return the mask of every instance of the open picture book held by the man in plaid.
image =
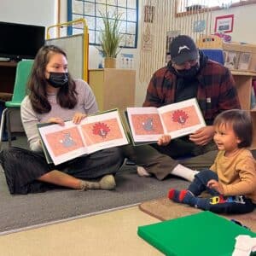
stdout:
{"type": "Polygon", "coordinates": [[[160,108],[127,108],[125,117],[134,145],[155,143],[163,134],[183,137],[206,126],[195,98],[160,108]]]}

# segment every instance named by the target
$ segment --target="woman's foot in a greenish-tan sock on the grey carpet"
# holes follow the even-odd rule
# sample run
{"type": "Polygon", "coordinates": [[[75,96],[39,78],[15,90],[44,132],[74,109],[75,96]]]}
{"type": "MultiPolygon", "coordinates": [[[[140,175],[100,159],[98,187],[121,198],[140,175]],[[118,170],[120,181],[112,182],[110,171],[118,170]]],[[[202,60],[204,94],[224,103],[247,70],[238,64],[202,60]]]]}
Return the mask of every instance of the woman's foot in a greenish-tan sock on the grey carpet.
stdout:
{"type": "Polygon", "coordinates": [[[105,189],[105,190],[111,190],[114,189],[116,186],[115,180],[113,175],[105,175],[101,178],[99,182],[90,182],[87,180],[81,181],[81,190],[87,190],[87,189],[105,189]]]}

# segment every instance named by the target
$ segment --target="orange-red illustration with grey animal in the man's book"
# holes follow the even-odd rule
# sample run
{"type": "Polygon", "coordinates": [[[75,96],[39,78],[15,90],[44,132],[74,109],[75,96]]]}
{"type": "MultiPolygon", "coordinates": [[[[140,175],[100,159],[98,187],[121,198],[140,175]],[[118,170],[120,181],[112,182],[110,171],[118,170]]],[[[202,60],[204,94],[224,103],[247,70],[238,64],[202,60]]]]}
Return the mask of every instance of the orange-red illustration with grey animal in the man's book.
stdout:
{"type": "Polygon", "coordinates": [[[164,133],[158,113],[131,114],[131,121],[136,135],[164,133]]]}

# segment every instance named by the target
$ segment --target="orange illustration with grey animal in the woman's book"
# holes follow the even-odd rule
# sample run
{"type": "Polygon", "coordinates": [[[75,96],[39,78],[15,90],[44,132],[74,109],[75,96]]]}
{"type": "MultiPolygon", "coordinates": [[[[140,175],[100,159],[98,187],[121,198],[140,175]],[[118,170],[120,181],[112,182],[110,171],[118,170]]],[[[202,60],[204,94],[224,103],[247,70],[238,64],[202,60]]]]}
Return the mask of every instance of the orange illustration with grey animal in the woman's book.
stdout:
{"type": "Polygon", "coordinates": [[[77,127],[50,132],[45,134],[45,137],[55,157],[78,148],[84,148],[84,143],[77,127]]]}

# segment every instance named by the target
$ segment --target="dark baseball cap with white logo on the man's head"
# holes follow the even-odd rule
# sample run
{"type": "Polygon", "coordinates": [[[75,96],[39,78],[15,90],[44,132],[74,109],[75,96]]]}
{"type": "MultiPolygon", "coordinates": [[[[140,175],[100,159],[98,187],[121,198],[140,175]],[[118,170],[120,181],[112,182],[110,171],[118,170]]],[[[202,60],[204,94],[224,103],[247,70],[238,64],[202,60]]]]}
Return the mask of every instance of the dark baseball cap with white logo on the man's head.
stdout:
{"type": "Polygon", "coordinates": [[[189,36],[180,35],[170,44],[172,62],[180,65],[186,61],[196,60],[199,56],[195,42],[189,36]]]}

